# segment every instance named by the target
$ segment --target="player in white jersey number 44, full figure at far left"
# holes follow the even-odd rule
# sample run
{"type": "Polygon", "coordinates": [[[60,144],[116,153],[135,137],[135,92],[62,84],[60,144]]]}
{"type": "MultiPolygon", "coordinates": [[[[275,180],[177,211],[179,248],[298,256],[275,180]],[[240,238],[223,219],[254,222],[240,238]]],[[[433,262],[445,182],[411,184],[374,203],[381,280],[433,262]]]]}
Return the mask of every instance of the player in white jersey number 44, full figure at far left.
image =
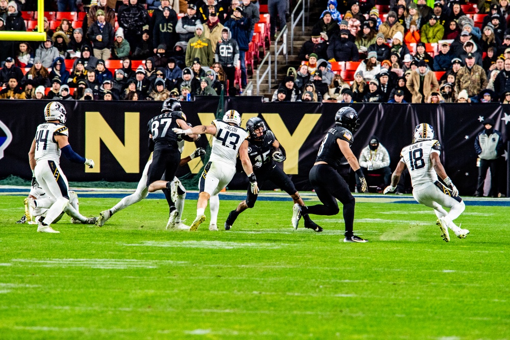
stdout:
{"type": "Polygon", "coordinates": [[[47,208],[44,218],[38,221],[38,232],[58,233],[50,225],[60,216],[66,205],[69,204],[69,184],[60,168],[60,154],[73,163],[85,164],[94,167],[94,161],[83,158],[74,152],[69,145],[66,111],[61,103],[49,102],[44,108],[46,123],[37,126],[35,139],[29,152],[30,167],[41,189],[48,198],[32,200],[35,208],[47,208]]]}

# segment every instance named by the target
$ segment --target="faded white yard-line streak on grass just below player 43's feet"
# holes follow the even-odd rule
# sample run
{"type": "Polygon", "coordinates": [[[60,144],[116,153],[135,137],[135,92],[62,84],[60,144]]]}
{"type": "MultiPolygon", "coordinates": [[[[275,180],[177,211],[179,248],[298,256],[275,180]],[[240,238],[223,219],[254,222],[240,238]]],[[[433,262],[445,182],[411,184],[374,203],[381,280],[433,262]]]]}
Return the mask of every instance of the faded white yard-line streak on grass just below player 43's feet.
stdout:
{"type": "Polygon", "coordinates": [[[123,246],[136,247],[183,247],[183,248],[205,248],[205,249],[237,249],[237,248],[263,248],[277,249],[292,246],[286,243],[257,243],[257,242],[232,242],[232,241],[144,241],[142,243],[126,244],[123,246]]]}

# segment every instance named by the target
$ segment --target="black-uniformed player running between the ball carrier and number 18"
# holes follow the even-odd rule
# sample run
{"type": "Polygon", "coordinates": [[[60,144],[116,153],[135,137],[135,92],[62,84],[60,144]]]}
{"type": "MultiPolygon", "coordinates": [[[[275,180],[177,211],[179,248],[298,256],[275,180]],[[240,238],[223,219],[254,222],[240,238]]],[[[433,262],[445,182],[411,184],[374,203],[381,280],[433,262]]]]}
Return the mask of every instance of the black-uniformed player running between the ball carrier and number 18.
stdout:
{"type": "Polygon", "coordinates": [[[339,212],[338,199],[344,206],[344,242],[368,242],[368,240],[355,236],[352,232],[354,197],[350,193],[345,180],[337,172],[340,162],[345,157],[352,170],[360,177],[361,191],[368,191],[367,181],[358,163],[358,159],[356,159],[356,156],[354,156],[350,149],[354,141],[352,133],[359,126],[360,119],[354,109],[344,107],[338,110],[335,115],[335,126],[327,131],[319,147],[317,160],[310,170],[310,183],[323,204],[301,207],[303,214],[337,215],[339,212]]]}

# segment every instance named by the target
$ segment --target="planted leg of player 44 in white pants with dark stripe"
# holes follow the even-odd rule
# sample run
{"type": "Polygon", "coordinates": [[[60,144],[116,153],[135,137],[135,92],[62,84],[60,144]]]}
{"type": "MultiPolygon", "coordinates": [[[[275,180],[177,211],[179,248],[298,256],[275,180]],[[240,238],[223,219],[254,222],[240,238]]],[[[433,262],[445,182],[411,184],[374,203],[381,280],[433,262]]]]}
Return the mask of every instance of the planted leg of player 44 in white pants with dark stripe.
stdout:
{"type": "MultiPolygon", "coordinates": [[[[69,185],[67,178],[54,161],[43,161],[35,169],[36,178],[44,183],[43,190],[47,189],[50,197],[55,198],[55,203],[48,209],[46,217],[39,219],[39,232],[59,232],[53,230],[50,224],[63,212],[64,207],[69,203],[69,185]]],[[[41,184],[39,181],[39,184],[41,184]]]]}

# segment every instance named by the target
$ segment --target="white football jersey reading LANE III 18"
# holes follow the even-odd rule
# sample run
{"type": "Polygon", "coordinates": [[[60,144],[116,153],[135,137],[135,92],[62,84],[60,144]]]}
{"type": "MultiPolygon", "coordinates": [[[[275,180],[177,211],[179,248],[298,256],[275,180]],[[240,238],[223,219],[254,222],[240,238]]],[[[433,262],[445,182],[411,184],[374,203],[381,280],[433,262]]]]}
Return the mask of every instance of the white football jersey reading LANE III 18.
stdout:
{"type": "Polygon", "coordinates": [[[441,145],[435,139],[407,145],[400,152],[400,162],[404,162],[409,170],[413,188],[438,180],[438,174],[430,161],[432,152],[441,154],[441,145]]]}

